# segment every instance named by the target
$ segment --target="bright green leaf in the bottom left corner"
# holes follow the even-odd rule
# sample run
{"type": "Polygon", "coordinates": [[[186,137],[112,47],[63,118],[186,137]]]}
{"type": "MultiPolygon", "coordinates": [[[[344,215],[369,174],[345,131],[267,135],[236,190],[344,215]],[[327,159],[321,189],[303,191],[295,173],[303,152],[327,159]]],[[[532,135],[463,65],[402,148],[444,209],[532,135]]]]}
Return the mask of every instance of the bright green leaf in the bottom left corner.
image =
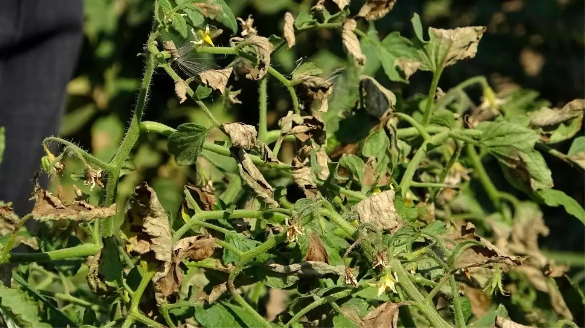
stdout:
{"type": "Polygon", "coordinates": [[[20,289],[8,288],[0,284],[0,306],[4,313],[22,328],[50,328],[41,321],[39,304],[28,298],[20,289]]]}

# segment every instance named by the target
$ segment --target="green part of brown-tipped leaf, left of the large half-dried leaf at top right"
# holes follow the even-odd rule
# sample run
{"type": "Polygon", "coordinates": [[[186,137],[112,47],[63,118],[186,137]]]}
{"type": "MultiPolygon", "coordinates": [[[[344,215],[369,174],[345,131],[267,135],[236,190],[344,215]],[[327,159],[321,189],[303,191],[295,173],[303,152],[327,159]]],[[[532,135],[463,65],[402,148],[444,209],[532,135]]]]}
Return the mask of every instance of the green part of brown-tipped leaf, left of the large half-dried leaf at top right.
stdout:
{"type": "Polygon", "coordinates": [[[412,45],[410,40],[401,37],[398,32],[388,34],[384,40],[377,43],[376,54],[382,62],[384,72],[392,81],[407,81],[397,69],[398,58],[418,60],[417,49],[412,45]]]}

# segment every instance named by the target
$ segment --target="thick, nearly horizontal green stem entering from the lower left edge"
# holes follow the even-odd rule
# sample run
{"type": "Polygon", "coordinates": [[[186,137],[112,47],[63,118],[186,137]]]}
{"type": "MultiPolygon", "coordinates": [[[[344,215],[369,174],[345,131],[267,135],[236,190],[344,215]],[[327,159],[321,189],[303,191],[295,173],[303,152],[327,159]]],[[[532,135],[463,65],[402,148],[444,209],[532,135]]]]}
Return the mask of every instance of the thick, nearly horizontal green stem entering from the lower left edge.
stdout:
{"type": "Polygon", "coordinates": [[[99,247],[99,245],[82,244],[66,249],[51,250],[50,252],[44,253],[8,253],[8,255],[0,261],[0,265],[6,263],[28,263],[63,260],[72,257],[85,257],[88,255],[95,255],[100,250],[101,247],[99,247]]]}

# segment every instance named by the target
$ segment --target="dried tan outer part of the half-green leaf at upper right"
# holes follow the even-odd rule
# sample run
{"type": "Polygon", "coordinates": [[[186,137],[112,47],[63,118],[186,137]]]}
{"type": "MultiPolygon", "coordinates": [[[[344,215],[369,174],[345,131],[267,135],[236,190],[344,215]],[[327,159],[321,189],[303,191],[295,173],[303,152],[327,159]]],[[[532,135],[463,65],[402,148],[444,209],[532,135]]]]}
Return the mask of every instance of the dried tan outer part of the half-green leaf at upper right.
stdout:
{"type": "Polygon", "coordinates": [[[479,40],[484,32],[486,32],[485,26],[457,27],[453,30],[429,28],[431,43],[437,43],[439,53],[445,56],[443,67],[475,57],[479,40]]]}

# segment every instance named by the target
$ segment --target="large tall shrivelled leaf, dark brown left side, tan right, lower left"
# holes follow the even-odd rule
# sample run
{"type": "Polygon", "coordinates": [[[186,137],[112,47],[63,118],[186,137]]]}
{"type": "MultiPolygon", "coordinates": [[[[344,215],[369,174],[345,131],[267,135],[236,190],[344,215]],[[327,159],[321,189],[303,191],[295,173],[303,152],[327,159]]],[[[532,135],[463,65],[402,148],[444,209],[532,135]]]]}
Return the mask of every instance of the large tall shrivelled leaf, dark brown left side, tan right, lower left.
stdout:
{"type": "Polygon", "coordinates": [[[160,304],[164,299],[158,282],[166,278],[171,270],[173,236],[163,206],[145,182],[134,189],[126,203],[121,231],[126,241],[126,252],[136,253],[150,263],[159,264],[152,282],[157,303],[160,304]]]}

